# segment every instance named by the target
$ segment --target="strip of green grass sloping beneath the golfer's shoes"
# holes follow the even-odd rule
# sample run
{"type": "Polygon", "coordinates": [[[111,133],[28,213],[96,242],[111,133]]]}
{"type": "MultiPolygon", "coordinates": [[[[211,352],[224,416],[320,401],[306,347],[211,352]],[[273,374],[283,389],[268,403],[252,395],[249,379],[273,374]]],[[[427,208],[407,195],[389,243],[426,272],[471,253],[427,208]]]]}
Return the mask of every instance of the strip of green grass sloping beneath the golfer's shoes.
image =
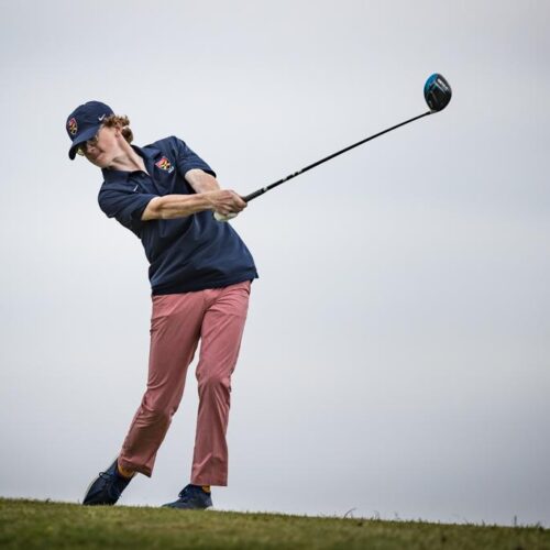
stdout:
{"type": "Polygon", "coordinates": [[[542,550],[550,530],[0,498],[0,548],[542,550]]]}

